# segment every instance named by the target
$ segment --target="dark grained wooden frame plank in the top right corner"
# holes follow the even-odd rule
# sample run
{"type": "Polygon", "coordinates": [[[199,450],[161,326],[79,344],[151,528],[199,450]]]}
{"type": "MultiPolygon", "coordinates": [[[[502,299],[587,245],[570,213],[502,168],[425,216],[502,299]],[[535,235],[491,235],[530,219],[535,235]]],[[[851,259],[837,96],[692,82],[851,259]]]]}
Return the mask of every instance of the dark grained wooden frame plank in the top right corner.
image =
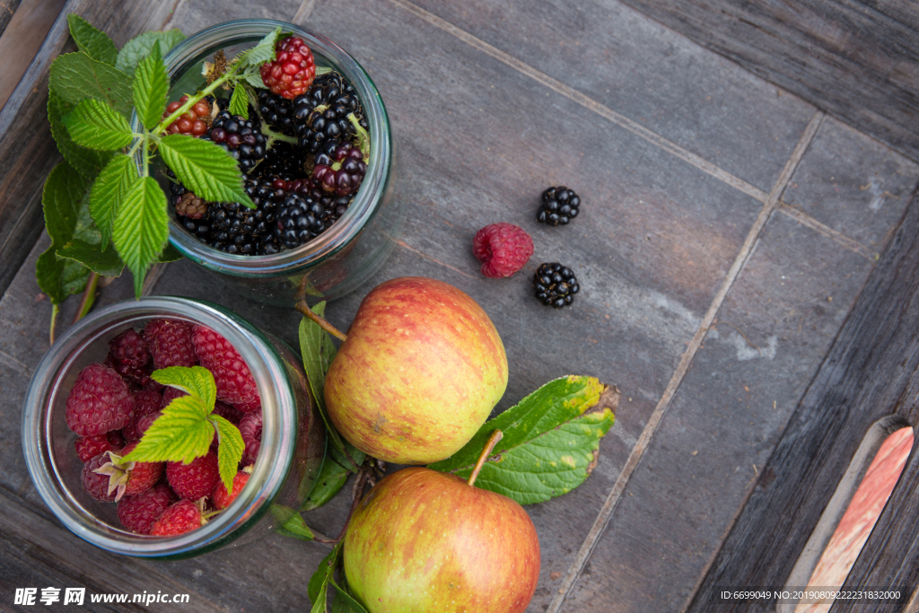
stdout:
{"type": "Polygon", "coordinates": [[[914,3],[624,2],[919,160],[914,3]]]}

